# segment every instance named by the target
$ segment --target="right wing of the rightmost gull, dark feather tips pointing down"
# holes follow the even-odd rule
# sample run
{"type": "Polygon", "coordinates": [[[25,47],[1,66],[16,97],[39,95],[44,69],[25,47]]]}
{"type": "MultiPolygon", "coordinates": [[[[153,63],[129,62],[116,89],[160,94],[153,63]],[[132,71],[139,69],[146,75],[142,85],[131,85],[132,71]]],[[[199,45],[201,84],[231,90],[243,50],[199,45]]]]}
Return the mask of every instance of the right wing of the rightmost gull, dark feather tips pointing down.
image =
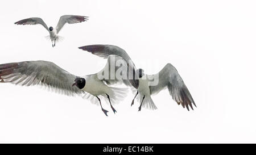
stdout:
{"type": "Polygon", "coordinates": [[[183,108],[187,108],[189,111],[190,106],[193,110],[192,103],[196,106],[191,94],[188,91],[187,86],[183,82],[177,70],[171,64],[167,64],[157,75],[148,75],[149,79],[153,77],[159,77],[159,83],[156,86],[150,86],[150,94],[159,93],[160,90],[166,87],[169,90],[172,99],[174,99],[177,104],[181,104],[183,108]]]}

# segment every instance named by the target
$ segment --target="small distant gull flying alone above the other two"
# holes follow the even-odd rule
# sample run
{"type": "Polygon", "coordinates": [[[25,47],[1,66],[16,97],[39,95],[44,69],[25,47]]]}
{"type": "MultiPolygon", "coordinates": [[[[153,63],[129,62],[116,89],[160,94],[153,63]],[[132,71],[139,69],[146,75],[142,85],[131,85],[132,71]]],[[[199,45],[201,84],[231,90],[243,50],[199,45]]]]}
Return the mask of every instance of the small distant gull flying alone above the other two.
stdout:
{"type": "Polygon", "coordinates": [[[53,27],[47,27],[46,23],[44,23],[42,18],[33,17],[33,18],[27,18],[19,20],[18,22],[15,22],[14,24],[17,25],[35,25],[35,24],[41,24],[46,30],[49,32],[49,38],[52,41],[52,47],[55,47],[56,40],[60,40],[60,36],[58,33],[60,32],[61,28],[63,28],[65,23],[69,24],[75,24],[75,23],[81,23],[88,20],[88,16],[80,16],[80,15],[63,15],[60,17],[59,22],[55,29],[53,27]],[[54,44],[53,44],[54,41],[54,44]]]}

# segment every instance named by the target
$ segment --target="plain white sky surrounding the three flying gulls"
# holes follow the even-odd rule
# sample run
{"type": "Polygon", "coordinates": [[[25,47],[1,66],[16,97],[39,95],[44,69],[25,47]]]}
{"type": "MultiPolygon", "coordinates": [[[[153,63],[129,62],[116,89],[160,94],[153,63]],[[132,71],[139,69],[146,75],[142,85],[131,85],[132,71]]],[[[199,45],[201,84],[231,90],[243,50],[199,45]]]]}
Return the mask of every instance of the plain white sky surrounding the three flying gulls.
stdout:
{"type": "Polygon", "coordinates": [[[1,143],[255,143],[255,1],[4,1],[1,56],[7,62],[47,60],[82,76],[106,60],[77,47],[113,44],[148,74],[168,62],[197,104],[187,111],[167,90],[158,110],[130,107],[130,93],[109,117],[89,100],[39,87],[0,83],[1,143]],[[42,26],[14,22],[40,17],[56,26],[64,14],[90,16],[67,24],[52,48],[42,26]]]}

